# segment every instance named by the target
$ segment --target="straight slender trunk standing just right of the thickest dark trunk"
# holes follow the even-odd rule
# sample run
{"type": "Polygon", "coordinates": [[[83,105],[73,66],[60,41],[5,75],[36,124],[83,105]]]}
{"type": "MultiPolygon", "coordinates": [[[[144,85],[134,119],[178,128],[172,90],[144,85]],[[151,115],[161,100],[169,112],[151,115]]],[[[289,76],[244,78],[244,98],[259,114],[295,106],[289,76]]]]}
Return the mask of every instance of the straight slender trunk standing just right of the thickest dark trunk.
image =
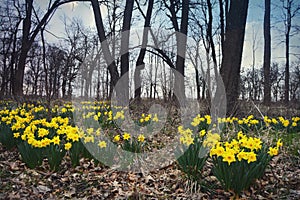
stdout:
{"type": "Polygon", "coordinates": [[[271,27],[270,27],[271,1],[265,0],[265,16],[264,16],[264,104],[271,103],[271,27]]]}

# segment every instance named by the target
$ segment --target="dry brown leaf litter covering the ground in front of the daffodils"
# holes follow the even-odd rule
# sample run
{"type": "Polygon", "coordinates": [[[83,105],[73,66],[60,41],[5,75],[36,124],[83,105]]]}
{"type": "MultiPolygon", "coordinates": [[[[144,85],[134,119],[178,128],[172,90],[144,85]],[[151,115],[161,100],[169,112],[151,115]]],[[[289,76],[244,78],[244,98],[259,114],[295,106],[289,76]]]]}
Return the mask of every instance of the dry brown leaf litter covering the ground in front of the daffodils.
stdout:
{"type": "MultiPolygon", "coordinates": [[[[58,172],[47,161],[29,169],[16,150],[0,145],[0,199],[229,199],[210,168],[195,187],[175,163],[148,174],[122,172],[81,160],[72,168],[66,157],[58,172]]],[[[243,199],[300,199],[300,158],[281,153],[243,199]]]]}

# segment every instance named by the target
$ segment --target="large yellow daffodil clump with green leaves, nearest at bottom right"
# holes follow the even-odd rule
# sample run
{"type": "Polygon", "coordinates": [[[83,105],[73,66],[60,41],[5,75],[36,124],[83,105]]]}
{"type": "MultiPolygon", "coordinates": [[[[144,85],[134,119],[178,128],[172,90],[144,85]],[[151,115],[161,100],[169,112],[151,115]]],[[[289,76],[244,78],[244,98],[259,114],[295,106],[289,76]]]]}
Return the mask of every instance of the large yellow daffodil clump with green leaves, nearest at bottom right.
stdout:
{"type": "Polygon", "coordinates": [[[225,190],[238,196],[262,177],[282,145],[279,139],[275,147],[268,148],[260,138],[248,137],[240,131],[231,141],[218,142],[210,150],[212,172],[225,190]]]}

